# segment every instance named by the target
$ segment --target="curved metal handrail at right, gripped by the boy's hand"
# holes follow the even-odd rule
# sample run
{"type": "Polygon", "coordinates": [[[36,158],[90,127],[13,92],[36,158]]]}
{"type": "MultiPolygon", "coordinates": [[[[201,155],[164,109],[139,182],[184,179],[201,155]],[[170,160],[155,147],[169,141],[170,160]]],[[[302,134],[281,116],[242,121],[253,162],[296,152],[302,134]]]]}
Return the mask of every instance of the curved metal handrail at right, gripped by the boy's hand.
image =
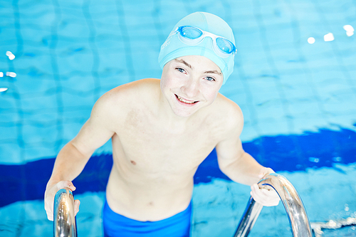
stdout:
{"type": "MultiPolygon", "coordinates": [[[[271,186],[278,193],[286,209],[294,237],[312,237],[310,222],[304,205],[294,186],[281,174],[268,174],[259,181],[258,186],[271,186]]],[[[234,237],[246,237],[251,231],[263,206],[252,198],[248,201],[234,237]]]]}

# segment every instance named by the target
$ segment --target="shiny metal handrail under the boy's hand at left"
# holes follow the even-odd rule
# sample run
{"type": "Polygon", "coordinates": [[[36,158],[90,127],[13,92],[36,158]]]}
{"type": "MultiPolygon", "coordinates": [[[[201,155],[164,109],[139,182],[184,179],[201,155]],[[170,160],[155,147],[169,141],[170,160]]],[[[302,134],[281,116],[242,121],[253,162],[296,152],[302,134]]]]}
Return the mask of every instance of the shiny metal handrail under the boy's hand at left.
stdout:
{"type": "Polygon", "coordinates": [[[70,189],[56,193],[53,206],[53,233],[55,237],[76,237],[77,226],[74,214],[74,198],[70,189]]]}

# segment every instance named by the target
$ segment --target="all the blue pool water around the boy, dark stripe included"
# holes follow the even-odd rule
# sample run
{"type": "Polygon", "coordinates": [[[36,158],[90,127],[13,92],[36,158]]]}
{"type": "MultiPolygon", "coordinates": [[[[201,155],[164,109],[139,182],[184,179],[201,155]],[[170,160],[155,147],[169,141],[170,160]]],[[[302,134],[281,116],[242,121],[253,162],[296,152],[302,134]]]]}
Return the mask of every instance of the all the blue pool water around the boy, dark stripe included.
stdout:
{"type": "MultiPolygon", "coordinates": [[[[160,77],[159,46],[194,11],[234,30],[236,65],[220,92],[244,112],[244,149],[292,181],[310,221],[356,216],[356,35],[343,28],[356,28],[355,1],[0,0],[0,236],[51,235],[43,193],[59,149],[100,95],[160,77]]],[[[108,142],[75,180],[80,236],[101,236],[110,154],[108,142]]],[[[214,151],[194,183],[192,236],[231,236],[248,187],[219,172],[214,151]]],[[[324,236],[356,236],[337,231],[324,236]]],[[[281,204],[251,233],[288,235],[281,204]]]]}

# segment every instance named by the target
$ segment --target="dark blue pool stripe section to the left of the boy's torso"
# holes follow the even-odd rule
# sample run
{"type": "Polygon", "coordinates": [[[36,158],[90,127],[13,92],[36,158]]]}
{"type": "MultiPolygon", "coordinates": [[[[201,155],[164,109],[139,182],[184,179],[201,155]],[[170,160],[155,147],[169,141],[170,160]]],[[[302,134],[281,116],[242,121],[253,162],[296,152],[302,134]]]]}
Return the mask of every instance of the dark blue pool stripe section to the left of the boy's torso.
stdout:
{"type": "MultiPolygon", "coordinates": [[[[15,201],[43,199],[55,158],[40,159],[23,165],[0,165],[0,206],[15,201]]],[[[104,191],[112,166],[112,155],[90,158],[74,184],[81,194],[85,191],[104,191]]]]}

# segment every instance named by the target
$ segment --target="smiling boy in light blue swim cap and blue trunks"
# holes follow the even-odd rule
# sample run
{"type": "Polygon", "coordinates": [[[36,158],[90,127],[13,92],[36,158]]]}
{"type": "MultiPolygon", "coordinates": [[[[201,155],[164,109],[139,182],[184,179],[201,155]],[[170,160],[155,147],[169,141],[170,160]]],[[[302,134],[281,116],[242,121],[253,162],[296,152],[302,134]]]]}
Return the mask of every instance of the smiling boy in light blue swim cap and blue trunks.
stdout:
{"type": "MultiPolygon", "coordinates": [[[[161,47],[162,77],[105,93],[78,135],[59,152],[45,208],[112,139],[113,166],[103,210],[105,236],[189,236],[193,177],[216,147],[219,167],[265,206],[276,192],[256,182],[273,172],[244,152],[244,125],[235,102],[219,94],[234,68],[234,35],[225,21],[197,12],[179,21],[161,47]]],[[[75,201],[78,212],[79,201],[75,201]]]]}

